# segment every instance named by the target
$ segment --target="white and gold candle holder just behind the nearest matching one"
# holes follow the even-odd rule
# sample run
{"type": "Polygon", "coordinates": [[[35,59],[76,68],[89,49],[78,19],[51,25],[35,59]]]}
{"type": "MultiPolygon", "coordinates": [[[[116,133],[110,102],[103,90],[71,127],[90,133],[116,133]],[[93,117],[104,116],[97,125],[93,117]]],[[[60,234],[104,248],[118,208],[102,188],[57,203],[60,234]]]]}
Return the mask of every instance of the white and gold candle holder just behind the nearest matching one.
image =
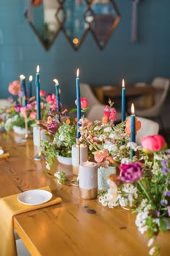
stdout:
{"type": "Polygon", "coordinates": [[[73,174],[78,175],[79,173],[79,161],[80,163],[87,161],[88,159],[88,150],[85,144],[75,144],[72,146],[72,166],[73,166],[73,174]],[[80,156],[79,156],[79,147],[80,147],[80,156]],[[80,157],[80,159],[79,159],[80,157]]]}

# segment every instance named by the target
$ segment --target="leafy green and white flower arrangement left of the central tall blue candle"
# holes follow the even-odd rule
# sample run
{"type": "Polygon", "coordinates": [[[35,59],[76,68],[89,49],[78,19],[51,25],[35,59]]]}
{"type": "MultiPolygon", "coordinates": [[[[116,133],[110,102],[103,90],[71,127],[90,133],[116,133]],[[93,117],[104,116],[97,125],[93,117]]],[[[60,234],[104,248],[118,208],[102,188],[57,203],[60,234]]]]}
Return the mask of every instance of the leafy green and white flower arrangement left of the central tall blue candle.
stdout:
{"type": "MultiPolygon", "coordinates": [[[[50,98],[52,104],[53,98],[50,98]]],[[[86,111],[87,106],[88,101],[81,97],[81,111],[86,111]]],[[[76,108],[73,108],[69,114],[75,111],[76,108]]],[[[67,109],[61,112],[55,111],[55,106],[53,106],[51,111],[48,111],[48,119],[40,123],[50,138],[49,141],[41,140],[40,145],[41,154],[45,158],[48,169],[53,166],[57,155],[71,157],[72,146],[76,144],[76,119],[66,116],[67,113],[67,109]]]]}

